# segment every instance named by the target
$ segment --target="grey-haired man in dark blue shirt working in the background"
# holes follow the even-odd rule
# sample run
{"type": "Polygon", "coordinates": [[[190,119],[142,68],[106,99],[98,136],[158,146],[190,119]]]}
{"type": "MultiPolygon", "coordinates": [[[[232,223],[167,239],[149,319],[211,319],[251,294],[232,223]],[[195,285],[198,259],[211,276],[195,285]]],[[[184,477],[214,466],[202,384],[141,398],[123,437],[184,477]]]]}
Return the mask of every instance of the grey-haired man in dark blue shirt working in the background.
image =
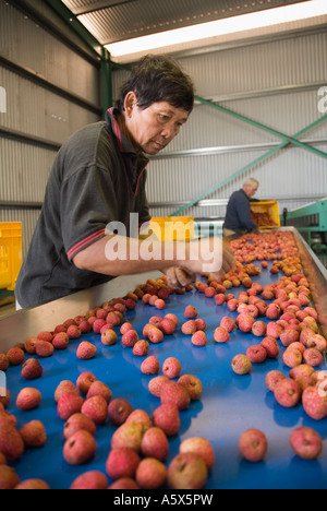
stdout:
{"type": "Polygon", "coordinates": [[[251,202],[257,202],[253,195],[257,192],[258,187],[258,181],[250,178],[241,190],[231,195],[227,205],[223,237],[240,236],[258,229],[258,226],[251,218],[251,202]]]}

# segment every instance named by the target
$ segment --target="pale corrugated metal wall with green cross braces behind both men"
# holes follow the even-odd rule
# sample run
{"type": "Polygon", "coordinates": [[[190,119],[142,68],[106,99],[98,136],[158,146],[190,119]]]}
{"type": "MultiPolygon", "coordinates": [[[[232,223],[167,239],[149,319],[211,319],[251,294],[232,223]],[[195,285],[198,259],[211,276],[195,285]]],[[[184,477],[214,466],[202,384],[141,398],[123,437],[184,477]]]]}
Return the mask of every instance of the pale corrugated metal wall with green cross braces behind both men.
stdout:
{"type": "MultiPolygon", "coordinates": [[[[179,61],[193,78],[197,96],[289,136],[323,116],[318,90],[327,85],[326,32],[298,33],[180,57],[179,61]]],[[[116,91],[125,76],[125,72],[114,73],[116,91]]],[[[327,152],[327,122],[303,134],[301,141],[327,152]]],[[[152,214],[170,215],[180,203],[205,193],[280,142],[275,135],[197,105],[166,154],[148,167],[152,214]]],[[[182,214],[223,217],[228,198],[250,176],[261,181],[257,197],[279,200],[281,212],[327,195],[327,161],[292,146],[182,214]]]]}

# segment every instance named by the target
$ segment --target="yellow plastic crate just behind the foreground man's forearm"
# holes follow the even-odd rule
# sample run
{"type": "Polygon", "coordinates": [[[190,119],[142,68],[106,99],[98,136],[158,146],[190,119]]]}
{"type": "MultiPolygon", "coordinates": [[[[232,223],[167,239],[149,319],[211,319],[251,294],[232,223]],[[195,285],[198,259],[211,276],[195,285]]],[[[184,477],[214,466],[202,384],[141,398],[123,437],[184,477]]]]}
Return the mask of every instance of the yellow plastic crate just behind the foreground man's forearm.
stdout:
{"type": "Polygon", "coordinates": [[[190,241],[194,239],[193,216],[165,216],[152,218],[150,227],[161,241],[190,241]]]}

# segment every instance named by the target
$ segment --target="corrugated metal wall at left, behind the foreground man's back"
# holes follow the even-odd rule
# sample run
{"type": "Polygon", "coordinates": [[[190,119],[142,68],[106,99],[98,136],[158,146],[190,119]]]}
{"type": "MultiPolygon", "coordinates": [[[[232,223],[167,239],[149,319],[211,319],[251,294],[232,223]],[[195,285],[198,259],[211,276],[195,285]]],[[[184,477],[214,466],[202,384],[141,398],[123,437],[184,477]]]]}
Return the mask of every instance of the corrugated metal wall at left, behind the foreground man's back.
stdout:
{"type": "Polygon", "coordinates": [[[43,2],[31,5],[43,23],[0,1],[0,87],[7,96],[0,112],[0,222],[23,222],[24,253],[59,146],[98,121],[100,106],[96,58],[82,44],[80,51],[76,37],[43,2]]]}

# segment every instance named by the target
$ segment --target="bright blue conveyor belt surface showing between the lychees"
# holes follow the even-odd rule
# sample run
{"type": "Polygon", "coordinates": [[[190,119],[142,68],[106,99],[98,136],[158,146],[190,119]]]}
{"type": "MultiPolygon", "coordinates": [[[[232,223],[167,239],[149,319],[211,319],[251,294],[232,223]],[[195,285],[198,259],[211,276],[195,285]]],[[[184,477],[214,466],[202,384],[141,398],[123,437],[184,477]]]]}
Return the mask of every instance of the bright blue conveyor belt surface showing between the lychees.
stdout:
{"type": "MultiPolygon", "coordinates": [[[[266,270],[258,277],[254,277],[254,281],[265,285],[279,278],[279,275],[271,275],[266,270]]],[[[242,287],[231,289],[235,296],[241,290],[242,287]]],[[[281,370],[288,376],[289,368],[281,359],[284,348],[281,346],[281,354],[277,360],[254,365],[251,375],[234,375],[231,369],[233,356],[245,354],[249,346],[259,344],[262,338],[237,331],[231,334],[228,344],[216,344],[213,334],[221,318],[230,316],[235,319],[238,313],[230,312],[226,305],[216,306],[214,298],[207,298],[195,290],[181,296],[171,295],[167,300],[167,308],[160,311],[138,301],[134,311],[124,314],[124,320],[132,322],[142,338],[142,330],[148,319],[152,316],[164,317],[168,312],[179,318],[179,328],[172,336],[165,336],[162,344],[150,344],[149,355],[156,355],[161,366],[167,357],[177,357],[182,365],[182,373],[197,376],[204,390],[201,401],[192,402],[187,409],[180,413],[180,433],[169,440],[170,451],[166,465],[168,466],[178,454],[182,440],[201,436],[213,443],[216,452],[216,463],[210,471],[206,489],[327,488],[327,419],[322,421],[311,419],[301,404],[291,409],[282,408],[265,385],[266,373],[270,370],[281,370]],[[196,307],[198,317],[207,322],[208,344],[205,347],[193,346],[191,336],[181,333],[181,325],[186,321],[183,313],[187,305],[196,307]],[[313,427],[323,437],[325,451],[316,461],[301,460],[290,447],[291,432],[301,426],[313,427]],[[265,461],[257,464],[242,460],[238,450],[239,437],[250,428],[263,430],[269,443],[265,461]]],[[[65,319],[61,318],[59,322],[65,319]]],[[[119,332],[119,329],[116,331],[119,332]]],[[[11,464],[21,480],[41,478],[51,488],[61,489],[69,488],[82,473],[95,470],[106,473],[110,439],[116,430],[110,424],[97,427],[98,449],[96,456],[89,463],[70,466],[64,461],[62,456],[64,423],[57,415],[53,399],[60,381],[71,380],[75,383],[83,371],[92,371],[98,380],[110,387],[112,399],[124,397],[130,401],[134,409],[142,408],[152,415],[160,404],[159,400],[150,395],[147,390],[152,377],[141,373],[143,358],[134,356],[131,348],[122,347],[120,334],[114,346],[104,346],[100,335],[87,334],[83,340],[96,344],[98,354],[95,359],[76,358],[76,349],[81,342],[77,340],[71,341],[66,350],[55,352],[51,358],[40,360],[44,367],[41,379],[23,380],[21,367],[11,367],[7,372],[8,388],[11,392],[8,409],[17,417],[19,427],[38,419],[44,423],[48,436],[44,448],[28,449],[21,460],[11,464]],[[43,401],[39,408],[21,412],[15,407],[16,395],[24,387],[40,390],[43,401]]],[[[16,342],[23,341],[16,340],[16,342]]],[[[108,482],[110,483],[109,478],[108,482]]]]}

